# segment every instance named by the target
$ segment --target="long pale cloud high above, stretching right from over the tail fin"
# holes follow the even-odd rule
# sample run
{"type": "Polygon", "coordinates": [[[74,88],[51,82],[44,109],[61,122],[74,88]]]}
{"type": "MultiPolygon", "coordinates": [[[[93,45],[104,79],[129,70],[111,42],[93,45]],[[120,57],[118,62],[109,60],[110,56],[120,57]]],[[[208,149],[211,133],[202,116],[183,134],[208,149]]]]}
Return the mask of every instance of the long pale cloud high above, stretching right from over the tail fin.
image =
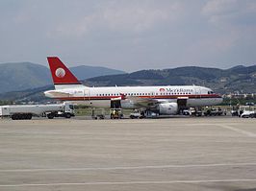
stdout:
{"type": "Polygon", "coordinates": [[[95,30],[141,33],[176,21],[182,9],[178,1],[159,5],[155,1],[107,1],[96,5],[88,15],[60,23],[49,34],[84,36],[95,30]]]}

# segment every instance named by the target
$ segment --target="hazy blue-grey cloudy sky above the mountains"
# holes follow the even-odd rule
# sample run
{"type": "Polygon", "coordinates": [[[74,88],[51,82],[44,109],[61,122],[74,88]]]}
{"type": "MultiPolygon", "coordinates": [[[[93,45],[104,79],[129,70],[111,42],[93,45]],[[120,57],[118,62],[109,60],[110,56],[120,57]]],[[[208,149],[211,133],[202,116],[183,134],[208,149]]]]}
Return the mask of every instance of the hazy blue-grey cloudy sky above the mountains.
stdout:
{"type": "Polygon", "coordinates": [[[127,72],[256,64],[255,0],[0,0],[0,62],[127,72]]]}

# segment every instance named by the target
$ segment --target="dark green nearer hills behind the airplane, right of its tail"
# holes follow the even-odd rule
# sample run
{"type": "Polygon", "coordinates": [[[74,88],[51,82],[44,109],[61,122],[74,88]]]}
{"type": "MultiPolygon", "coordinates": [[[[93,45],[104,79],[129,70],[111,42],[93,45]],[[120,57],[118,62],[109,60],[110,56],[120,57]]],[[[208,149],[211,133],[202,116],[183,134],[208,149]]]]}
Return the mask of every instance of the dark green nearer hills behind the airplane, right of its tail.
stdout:
{"type": "Polygon", "coordinates": [[[94,86],[112,85],[181,85],[196,84],[218,93],[256,93],[256,65],[222,70],[204,67],[178,67],[164,70],[141,70],[131,74],[95,77],[85,81],[94,86]]]}

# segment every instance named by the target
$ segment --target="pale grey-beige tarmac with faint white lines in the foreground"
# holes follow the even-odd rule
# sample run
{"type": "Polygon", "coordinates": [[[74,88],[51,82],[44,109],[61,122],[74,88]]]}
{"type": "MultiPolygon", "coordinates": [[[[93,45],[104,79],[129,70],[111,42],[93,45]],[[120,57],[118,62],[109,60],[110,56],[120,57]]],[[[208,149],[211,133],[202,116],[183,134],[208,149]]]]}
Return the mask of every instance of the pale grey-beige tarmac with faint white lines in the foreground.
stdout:
{"type": "Polygon", "coordinates": [[[256,119],[0,120],[0,190],[256,190],[256,119]]]}

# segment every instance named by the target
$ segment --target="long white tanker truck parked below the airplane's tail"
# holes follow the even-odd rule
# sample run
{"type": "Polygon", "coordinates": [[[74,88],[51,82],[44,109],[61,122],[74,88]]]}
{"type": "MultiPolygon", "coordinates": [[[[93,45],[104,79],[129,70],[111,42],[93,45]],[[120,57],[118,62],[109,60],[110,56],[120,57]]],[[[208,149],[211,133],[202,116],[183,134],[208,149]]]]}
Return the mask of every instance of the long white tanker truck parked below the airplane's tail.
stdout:
{"type": "Polygon", "coordinates": [[[52,105],[10,105],[0,107],[0,117],[11,117],[13,120],[32,119],[32,116],[70,118],[74,116],[74,106],[64,102],[52,105]]]}

